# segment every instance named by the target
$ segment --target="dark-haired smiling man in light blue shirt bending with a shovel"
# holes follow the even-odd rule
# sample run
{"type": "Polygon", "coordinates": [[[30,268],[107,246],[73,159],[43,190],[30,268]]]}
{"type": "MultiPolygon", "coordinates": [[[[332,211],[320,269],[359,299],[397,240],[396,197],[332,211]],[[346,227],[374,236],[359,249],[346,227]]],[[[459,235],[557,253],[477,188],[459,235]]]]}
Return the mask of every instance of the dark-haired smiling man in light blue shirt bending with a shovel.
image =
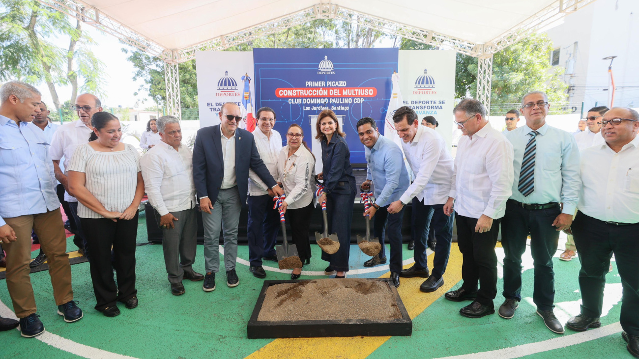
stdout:
{"type": "Polygon", "coordinates": [[[408,185],[408,170],[404,165],[404,155],[397,144],[380,135],[375,125],[375,120],[365,117],[357,121],[357,133],[366,151],[366,181],[360,188],[362,192],[371,188],[374,183],[375,202],[364,215],[374,217],[373,235],[380,239],[380,254],[364,263],[364,266],[372,267],[386,263],[384,234],[389,234],[390,241],[390,279],[395,287],[399,287],[399,272],[402,263],[401,246],[401,222],[404,209],[398,213],[389,213],[389,204],[398,201],[406,191],[408,185]]]}

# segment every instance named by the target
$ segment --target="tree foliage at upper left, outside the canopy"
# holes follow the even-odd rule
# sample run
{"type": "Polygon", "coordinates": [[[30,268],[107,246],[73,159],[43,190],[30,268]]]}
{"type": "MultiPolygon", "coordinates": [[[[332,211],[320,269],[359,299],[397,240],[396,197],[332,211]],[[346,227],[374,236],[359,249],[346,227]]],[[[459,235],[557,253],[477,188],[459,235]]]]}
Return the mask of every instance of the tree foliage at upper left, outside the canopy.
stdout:
{"type": "Polygon", "coordinates": [[[72,103],[78,91],[102,94],[104,63],[91,52],[95,43],[81,21],[36,0],[0,0],[0,11],[0,80],[44,81],[56,109],[64,102],[58,86],[71,86],[72,103]],[[68,39],[68,47],[54,38],[68,39]]]}

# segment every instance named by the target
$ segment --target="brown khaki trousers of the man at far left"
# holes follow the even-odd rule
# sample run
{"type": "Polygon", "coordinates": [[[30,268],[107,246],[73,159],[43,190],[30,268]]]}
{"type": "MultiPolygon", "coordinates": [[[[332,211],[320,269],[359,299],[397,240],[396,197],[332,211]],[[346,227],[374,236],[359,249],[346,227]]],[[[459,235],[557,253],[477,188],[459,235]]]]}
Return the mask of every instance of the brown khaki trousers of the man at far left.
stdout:
{"type": "Polygon", "coordinates": [[[60,209],[4,218],[15,231],[17,240],[3,243],[6,251],[6,286],[13,302],[15,316],[24,318],[37,311],[29,277],[31,262],[31,229],[40,238],[40,247],[47,255],[49,275],[56,305],[73,300],[71,265],[66,253],[66,234],[60,209]]]}

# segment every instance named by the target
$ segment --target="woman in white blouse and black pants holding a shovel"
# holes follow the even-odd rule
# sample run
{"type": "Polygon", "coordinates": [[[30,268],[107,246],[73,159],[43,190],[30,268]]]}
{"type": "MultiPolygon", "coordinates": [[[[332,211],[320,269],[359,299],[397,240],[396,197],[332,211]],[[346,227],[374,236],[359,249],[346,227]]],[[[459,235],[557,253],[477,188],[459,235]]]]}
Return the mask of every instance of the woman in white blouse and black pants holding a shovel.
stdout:
{"type": "MultiPolygon", "coordinates": [[[[291,236],[302,263],[311,258],[309,220],[315,192],[315,157],[304,141],[304,131],[295,123],[288,128],[286,146],[277,158],[278,183],[283,185],[286,199],[282,210],[291,225],[291,236]]],[[[298,279],[302,268],[295,268],[291,279],[298,279]]]]}

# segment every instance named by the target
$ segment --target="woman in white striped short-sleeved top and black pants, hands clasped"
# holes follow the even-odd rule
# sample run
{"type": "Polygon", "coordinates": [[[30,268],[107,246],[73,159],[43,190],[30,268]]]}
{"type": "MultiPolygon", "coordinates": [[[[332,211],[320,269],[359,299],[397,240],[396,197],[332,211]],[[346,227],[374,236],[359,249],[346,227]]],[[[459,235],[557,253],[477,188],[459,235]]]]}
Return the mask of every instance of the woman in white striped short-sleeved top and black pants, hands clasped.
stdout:
{"type": "Polygon", "coordinates": [[[91,248],[95,309],[114,317],[119,314],[116,301],[124,302],[128,309],[137,307],[135,240],[144,181],[137,150],[120,142],[118,118],[97,112],[91,125],[89,143],[75,149],[67,168],[69,190],[79,201],[78,216],[91,248]],[[117,284],[112,268],[118,275],[117,284]]]}

